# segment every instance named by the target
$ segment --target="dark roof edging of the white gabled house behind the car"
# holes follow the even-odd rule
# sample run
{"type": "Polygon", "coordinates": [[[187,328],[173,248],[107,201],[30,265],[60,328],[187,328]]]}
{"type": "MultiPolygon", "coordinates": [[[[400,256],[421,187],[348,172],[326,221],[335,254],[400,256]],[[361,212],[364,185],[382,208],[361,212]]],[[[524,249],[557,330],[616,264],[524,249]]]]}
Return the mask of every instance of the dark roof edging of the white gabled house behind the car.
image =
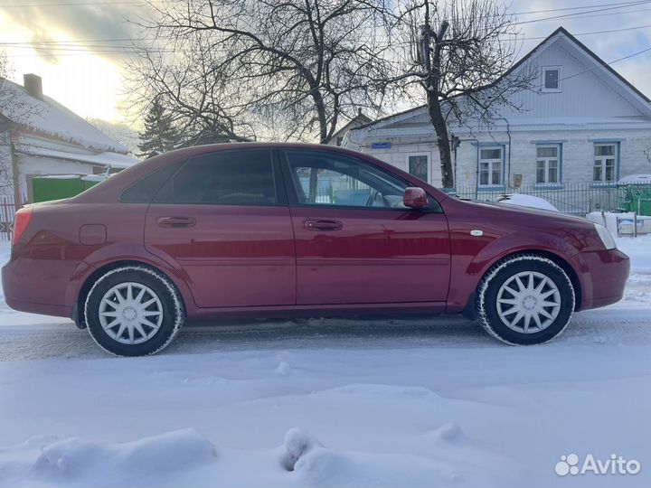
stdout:
{"type": "MultiPolygon", "coordinates": [[[[548,35],[544,40],[539,42],[530,52],[527,52],[519,61],[515,62],[514,65],[509,70],[505,71],[505,73],[498,80],[495,81],[495,83],[497,83],[499,80],[503,80],[504,78],[506,78],[507,76],[512,74],[515,70],[517,70],[518,68],[523,66],[524,63],[526,61],[529,61],[536,52],[539,52],[544,46],[546,46],[549,42],[551,42],[554,38],[556,38],[560,34],[564,35],[570,42],[573,42],[574,44],[576,44],[577,47],[581,51],[585,52],[593,61],[596,61],[601,67],[608,70],[608,72],[611,75],[613,75],[617,80],[622,82],[639,99],[642,99],[644,103],[646,103],[646,104],[651,103],[651,99],[648,99],[646,97],[646,95],[644,93],[642,93],[639,89],[637,89],[630,81],[628,81],[626,78],[624,78],[622,75],[620,75],[617,70],[614,70],[609,65],[609,63],[607,63],[606,61],[603,61],[601,58],[599,58],[599,56],[597,54],[592,52],[590,50],[590,48],[588,48],[583,42],[580,42],[576,37],[574,37],[567,29],[565,29],[562,26],[559,27],[558,29],[556,29],[550,35],[548,35]]],[[[373,121],[371,121],[369,123],[363,124],[363,125],[361,125],[359,127],[354,127],[353,130],[359,130],[359,129],[363,129],[363,128],[366,128],[366,127],[373,127],[373,126],[377,126],[378,124],[382,124],[382,123],[389,122],[389,121],[392,121],[393,123],[395,123],[397,121],[401,121],[403,119],[413,117],[413,115],[416,112],[419,112],[419,111],[424,110],[426,108],[427,108],[426,105],[420,105],[418,107],[408,108],[406,110],[398,112],[397,114],[392,114],[392,115],[387,116],[387,117],[378,118],[378,119],[373,120],[373,121]]]]}

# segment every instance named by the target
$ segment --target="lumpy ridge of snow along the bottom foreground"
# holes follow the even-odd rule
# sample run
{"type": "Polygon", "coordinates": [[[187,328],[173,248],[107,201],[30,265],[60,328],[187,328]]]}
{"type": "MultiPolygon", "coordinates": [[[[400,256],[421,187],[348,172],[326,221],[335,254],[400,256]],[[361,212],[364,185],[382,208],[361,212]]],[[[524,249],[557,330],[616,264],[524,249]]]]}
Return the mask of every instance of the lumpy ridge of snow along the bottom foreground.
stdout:
{"type": "MultiPolygon", "coordinates": [[[[442,428],[445,436],[434,435],[448,439],[449,427],[442,428]]],[[[457,438],[458,427],[452,431],[457,438]]],[[[298,428],[288,430],[282,446],[220,455],[189,428],[125,444],[35,436],[0,448],[0,486],[473,486],[519,474],[482,450],[460,446],[451,455],[455,447],[435,442],[423,455],[337,451],[298,428]]]]}

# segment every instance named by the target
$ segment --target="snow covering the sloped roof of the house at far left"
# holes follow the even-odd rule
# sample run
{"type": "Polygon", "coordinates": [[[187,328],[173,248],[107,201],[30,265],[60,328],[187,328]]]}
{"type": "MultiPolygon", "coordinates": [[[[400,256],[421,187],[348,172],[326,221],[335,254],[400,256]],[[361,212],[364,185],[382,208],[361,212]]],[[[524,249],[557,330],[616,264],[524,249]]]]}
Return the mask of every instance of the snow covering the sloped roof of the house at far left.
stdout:
{"type": "Polygon", "coordinates": [[[50,97],[35,99],[13,81],[0,79],[0,114],[16,124],[95,151],[127,154],[127,147],[50,97]]]}

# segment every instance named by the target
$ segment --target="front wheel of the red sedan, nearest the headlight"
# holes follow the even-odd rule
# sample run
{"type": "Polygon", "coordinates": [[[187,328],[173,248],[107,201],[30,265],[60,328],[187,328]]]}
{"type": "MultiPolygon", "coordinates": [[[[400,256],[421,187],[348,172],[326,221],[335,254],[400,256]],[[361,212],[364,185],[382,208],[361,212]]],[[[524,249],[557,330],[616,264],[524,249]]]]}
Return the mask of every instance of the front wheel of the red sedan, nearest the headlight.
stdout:
{"type": "Polygon", "coordinates": [[[551,259],[521,255],[488,270],[479,284],[477,318],[508,344],[547,343],[570,323],[574,287],[551,259]]]}

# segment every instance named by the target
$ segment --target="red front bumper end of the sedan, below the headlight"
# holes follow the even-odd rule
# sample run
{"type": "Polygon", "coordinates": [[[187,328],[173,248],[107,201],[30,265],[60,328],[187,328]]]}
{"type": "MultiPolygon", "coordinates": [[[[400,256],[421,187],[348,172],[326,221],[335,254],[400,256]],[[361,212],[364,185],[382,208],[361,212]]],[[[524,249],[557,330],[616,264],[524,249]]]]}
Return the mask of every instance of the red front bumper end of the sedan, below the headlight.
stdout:
{"type": "Polygon", "coordinates": [[[617,303],[624,296],[630,261],[619,249],[581,253],[582,299],[580,310],[617,303]]]}

